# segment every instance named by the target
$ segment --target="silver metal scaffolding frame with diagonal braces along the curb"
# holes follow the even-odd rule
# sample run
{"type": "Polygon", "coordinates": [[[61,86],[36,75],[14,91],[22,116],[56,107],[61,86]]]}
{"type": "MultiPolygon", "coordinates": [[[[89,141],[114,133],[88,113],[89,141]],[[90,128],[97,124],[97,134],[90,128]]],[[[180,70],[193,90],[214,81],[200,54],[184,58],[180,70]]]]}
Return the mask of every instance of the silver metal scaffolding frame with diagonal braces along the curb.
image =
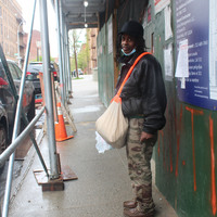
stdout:
{"type": "MultiPolygon", "coordinates": [[[[26,49],[26,56],[24,63],[24,69],[22,75],[21,88],[20,88],[20,98],[17,97],[16,90],[14,90],[14,98],[17,100],[16,106],[16,115],[14,122],[14,130],[13,130],[13,138],[12,143],[10,146],[0,155],[0,164],[3,164],[9,157],[9,170],[8,170],[8,179],[7,179],[7,187],[5,187],[5,194],[4,194],[4,202],[2,207],[2,217],[8,216],[9,210],[9,203],[10,203],[10,195],[11,195],[11,186],[12,186],[12,174],[13,174],[13,165],[14,165],[14,152],[16,148],[22,143],[22,141],[26,138],[27,135],[33,130],[35,124],[40,118],[42,113],[46,111],[47,116],[47,127],[48,127],[48,140],[49,140],[49,157],[50,157],[50,170],[48,173],[47,166],[43,162],[43,158],[40,154],[38,145],[34,139],[33,143],[37,151],[37,154],[41,161],[42,167],[50,180],[55,180],[60,178],[59,174],[59,164],[58,164],[58,154],[56,154],[56,143],[55,143],[55,131],[54,131],[54,112],[53,112],[53,95],[52,95],[52,84],[51,84],[51,73],[50,73],[50,47],[49,47],[49,31],[48,31],[48,9],[47,9],[47,1],[48,0],[40,0],[40,26],[41,26],[41,42],[42,42],[42,62],[43,62],[43,82],[44,86],[44,97],[46,97],[46,106],[40,111],[40,113],[31,120],[28,125],[28,122],[25,118],[25,114],[23,114],[23,119],[25,120],[26,125],[28,125],[25,130],[18,136],[20,131],[20,123],[21,123],[21,114],[22,114],[22,102],[23,102],[23,93],[24,93],[24,86],[26,79],[26,71],[28,64],[28,56],[30,50],[30,41],[31,41],[31,33],[33,33],[33,25],[35,18],[35,10],[36,10],[36,2],[34,2],[33,9],[33,17],[31,17],[31,25],[28,35],[28,42],[26,49]]],[[[56,27],[58,27],[58,43],[59,43],[59,67],[60,67],[60,91],[61,91],[61,101],[63,105],[66,105],[68,102],[68,98],[72,93],[72,84],[71,84],[71,65],[69,65],[69,48],[68,48],[68,35],[67,28],[65,24],[65,17],[62,13],[62,0],[55,0],[55,14],[56,14],[56,27]]],[[[3,61],[2,61],[3,62],[3,61]]],[[[5,68],[8,66],[7,61],[5,68]]],[[[4,69],[5,69],[4,68],[4,69]]],[[[10,71],[7,69],[10,74],[10,71]]],[[[13,80],[12,89],[13,87],[13,80]]],[[[0,208],[1,210],[1,208],[0,208]]]]}

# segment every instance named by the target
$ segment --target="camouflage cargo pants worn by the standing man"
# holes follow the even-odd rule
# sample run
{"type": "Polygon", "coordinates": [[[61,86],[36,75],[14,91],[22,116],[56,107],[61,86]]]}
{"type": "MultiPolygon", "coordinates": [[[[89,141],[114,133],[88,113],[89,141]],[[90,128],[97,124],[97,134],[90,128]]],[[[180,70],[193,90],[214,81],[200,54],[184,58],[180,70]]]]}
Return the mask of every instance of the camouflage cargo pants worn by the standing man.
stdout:
{"type": "Polygon", "coordinates": [[[152,171],[151,158],[153,146],[157,140],[154,138],[140,142],[143,118],[129,119],[129,133],[127,137],[127,158],[129,177],[135,191],[135,199],[138,202],[138,209],[149,213],[154,209],[152,199],[152,171]]]}

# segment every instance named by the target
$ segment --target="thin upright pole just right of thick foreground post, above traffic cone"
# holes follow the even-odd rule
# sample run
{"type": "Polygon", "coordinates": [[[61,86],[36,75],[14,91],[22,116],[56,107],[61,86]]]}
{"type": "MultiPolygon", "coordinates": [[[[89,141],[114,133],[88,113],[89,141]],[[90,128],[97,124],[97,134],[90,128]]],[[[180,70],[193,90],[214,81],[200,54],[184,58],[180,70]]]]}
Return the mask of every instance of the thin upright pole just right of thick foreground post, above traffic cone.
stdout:
{"type": "Polygon", "coordinates": [[[64,95],[63,95],[63,55],[62,55],[62,43],[61,43],[61,23],[60,23],[60,8],[59,0],[55,0],[55,14],[56,14],[56,27],[58,27],[58,41],[59,41],[59,68],[60,68],[60,87],[61,87],[61,100],[62,103],[64,104],[64,95]]]}

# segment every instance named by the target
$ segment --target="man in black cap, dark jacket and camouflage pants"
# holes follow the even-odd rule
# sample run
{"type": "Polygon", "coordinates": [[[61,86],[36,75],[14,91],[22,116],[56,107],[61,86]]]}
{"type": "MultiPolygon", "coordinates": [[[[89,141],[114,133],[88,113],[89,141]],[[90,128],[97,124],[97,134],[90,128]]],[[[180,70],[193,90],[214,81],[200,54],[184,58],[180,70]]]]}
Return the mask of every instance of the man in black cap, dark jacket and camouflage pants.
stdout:
{"type": "MultiPolygon", "coordinates": [[[[119,37],[122,69],[116,85],[119,89],[127,72],[136,59],[144,52],[143,27],[136,21],[124,24],[119,37]]],[[[151,157],[157,140],[157,130],[166,123],[166,92],[158,61],[151,54],[144,55],[135,66],[125,84],[122,108],[129,118],[126,150],[129,177],[135,199],[124,202],[126,217],[153,217],[151,157]]]]}

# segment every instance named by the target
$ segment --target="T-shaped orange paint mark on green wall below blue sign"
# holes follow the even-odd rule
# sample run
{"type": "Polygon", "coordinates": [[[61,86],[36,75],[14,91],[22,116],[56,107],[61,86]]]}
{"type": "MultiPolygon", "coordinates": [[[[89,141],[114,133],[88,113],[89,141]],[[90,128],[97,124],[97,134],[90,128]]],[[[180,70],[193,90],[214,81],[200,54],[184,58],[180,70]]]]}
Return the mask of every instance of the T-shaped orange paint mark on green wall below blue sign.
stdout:
{"type": "Polygon", "coordinates": [[[191,130],[192,130],[192,155],[193,155],[193,189],[196,191],[196,165],[195,165],[195,143],[194,143],[194,125],[193,117],[195,115],[203,115],[203,111],[194,110],[186,106],[186,110],[191,113],[191,130]]]}

